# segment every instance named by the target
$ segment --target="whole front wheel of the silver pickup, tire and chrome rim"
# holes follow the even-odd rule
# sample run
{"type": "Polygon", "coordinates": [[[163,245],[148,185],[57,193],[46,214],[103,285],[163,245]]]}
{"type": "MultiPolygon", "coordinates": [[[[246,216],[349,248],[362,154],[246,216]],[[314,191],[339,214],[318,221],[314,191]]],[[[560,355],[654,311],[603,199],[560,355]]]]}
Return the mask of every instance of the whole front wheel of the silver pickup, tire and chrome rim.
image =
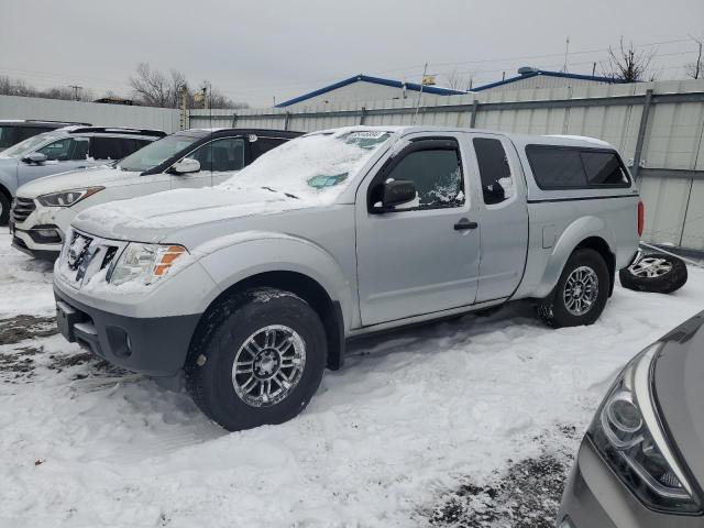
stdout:
{"type": "Polygon", "coordinates": [[[326,333],[296,295],[257,288],[226,300],[208,317],[186,364],[200,409],[230,431],[287,421],[318,389],[326,333]]]}

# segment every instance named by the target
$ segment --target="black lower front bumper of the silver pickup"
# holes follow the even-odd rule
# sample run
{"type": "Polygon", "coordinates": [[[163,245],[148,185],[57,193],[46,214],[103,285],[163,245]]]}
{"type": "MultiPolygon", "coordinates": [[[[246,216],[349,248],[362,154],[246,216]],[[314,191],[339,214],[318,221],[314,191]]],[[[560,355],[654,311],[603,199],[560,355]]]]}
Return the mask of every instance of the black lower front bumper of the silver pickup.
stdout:
{"type": "Polygon", "coordinates": [[[54,288],[59,332],[129,371],[173,376],[184,366],[200,315],[136,318],[88,307],[54,288]]]}

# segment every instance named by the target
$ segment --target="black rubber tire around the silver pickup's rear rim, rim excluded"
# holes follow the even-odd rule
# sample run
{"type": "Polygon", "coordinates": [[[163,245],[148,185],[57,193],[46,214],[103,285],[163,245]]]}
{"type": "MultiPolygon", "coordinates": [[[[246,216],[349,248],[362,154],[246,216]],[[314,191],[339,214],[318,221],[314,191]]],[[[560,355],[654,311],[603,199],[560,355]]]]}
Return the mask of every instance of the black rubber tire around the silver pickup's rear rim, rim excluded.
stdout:
{"type": "Polygon", "coordinates": [[[606,306],[610,278],[604,257],[588,248],[581,248],[570,255],[564,264],[562,275],[552,293],[538,306],[538,316],[553,328],[580,327],[596,321],[606,306]],[[596,276],[596,294],[585,312],[575,315],[565,302],[565,285],[578,268],[585,267],[596,276]]]}

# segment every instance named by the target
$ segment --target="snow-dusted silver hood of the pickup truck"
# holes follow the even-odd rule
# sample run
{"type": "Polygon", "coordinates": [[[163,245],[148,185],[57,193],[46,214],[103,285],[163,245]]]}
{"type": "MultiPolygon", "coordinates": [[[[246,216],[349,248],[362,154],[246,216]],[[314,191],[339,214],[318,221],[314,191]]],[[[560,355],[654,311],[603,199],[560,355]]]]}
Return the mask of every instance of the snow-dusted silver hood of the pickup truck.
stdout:
{"type": "Polygon", "coordinates": [[[72,226],[107,239],[178,242],[175,234],[194,227],[316,205],[267,189],[176,189],[88,208],[72,226]]]}

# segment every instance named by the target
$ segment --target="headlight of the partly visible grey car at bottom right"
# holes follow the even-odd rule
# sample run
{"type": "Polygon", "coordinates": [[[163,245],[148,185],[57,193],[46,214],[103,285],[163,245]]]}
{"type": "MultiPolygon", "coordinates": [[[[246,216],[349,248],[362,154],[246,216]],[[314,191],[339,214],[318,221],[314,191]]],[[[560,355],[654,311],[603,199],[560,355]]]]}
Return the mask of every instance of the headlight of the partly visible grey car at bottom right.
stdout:
{"type": "Polygon", "coordinates": [[[700,514],[702,507],[669,447],[652,399],[653,358],[660,346],[649,346],[626,365],[587,435],[606,463],[647,507],[700,514]]]}

